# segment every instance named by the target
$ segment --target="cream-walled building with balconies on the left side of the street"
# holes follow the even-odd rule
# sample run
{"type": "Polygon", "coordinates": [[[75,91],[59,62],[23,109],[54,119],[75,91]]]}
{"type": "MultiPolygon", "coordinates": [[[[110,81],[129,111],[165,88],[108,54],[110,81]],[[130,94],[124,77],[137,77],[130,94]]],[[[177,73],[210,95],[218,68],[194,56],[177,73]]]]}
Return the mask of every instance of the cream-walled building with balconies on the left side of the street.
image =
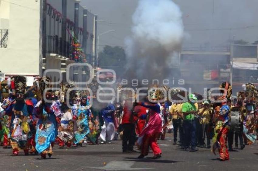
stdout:
{"type": "MultiPolygon", "coordinates": [[[[72,32],[92,64],[96,19],[78,0],[0,0],[0,71],[42,76],[46,69],[59,69],[65,78],[66,66],[74,62],[72,32]]],[[[47,75],[59,79],[58,73],[47,75]]]]}

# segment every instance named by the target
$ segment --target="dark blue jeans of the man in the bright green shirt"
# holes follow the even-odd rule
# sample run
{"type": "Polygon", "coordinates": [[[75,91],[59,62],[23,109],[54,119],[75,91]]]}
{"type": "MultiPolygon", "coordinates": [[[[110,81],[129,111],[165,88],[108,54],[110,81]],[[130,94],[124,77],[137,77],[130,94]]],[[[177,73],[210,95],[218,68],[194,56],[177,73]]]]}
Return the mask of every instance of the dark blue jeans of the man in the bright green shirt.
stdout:
{"type": "Polygon", "coordinates": [[[189,148],[191,144],[191,148],[195,149],[196,147],[196,122],[195,120],[188,121],[184,120],[183,123],[184,131],[185,131],[185,136],[184,136],[184,147],[189,148]]]}

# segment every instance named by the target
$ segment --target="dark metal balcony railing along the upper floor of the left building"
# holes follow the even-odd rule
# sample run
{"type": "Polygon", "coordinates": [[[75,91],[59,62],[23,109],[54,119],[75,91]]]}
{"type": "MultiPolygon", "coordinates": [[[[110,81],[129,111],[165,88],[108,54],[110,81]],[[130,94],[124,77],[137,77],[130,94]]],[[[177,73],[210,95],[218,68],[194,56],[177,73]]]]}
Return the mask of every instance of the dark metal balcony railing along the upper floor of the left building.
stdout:
{"type": "Polygon", "coordinates": [[[47,53],[56,53],[61,56],[70,58],[70,53],[72,51],[71,43],[63,40],[57,35],[48,35],[46,43],[47,53]]]}

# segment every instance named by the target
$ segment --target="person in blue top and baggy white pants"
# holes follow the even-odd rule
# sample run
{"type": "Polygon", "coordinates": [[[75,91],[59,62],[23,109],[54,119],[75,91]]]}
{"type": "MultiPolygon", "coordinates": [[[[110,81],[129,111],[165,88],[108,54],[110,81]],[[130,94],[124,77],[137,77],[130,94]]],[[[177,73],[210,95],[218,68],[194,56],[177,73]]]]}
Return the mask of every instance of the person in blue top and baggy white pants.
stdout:
{"type": "Polygon", "coordinates": [[[115,117],[115,106],[114,103],[109,103],[106,108],[103,108],[100,111],[104,125],[101,127],[101,144],[111,143],[111,140],[115,137],[115,125],[114,125],[114,117],[115,117]]]}

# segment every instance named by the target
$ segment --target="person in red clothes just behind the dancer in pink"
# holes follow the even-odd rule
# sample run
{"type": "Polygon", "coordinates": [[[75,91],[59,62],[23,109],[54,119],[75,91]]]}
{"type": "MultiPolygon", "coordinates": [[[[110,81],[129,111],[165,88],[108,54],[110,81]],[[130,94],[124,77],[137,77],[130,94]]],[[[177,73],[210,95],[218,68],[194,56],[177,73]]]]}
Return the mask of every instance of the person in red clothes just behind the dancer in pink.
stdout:
{"type": "Polygon", "coordinates": [[[145,124],[146,124],[146,118],[148,113],[148,108],[145,108],[141,105],[137,105],[134,107],[134,112],[137,114],[137,123],[135,127],[136,135],[139,137],[139,134],[143,130],[145,124]]]}

